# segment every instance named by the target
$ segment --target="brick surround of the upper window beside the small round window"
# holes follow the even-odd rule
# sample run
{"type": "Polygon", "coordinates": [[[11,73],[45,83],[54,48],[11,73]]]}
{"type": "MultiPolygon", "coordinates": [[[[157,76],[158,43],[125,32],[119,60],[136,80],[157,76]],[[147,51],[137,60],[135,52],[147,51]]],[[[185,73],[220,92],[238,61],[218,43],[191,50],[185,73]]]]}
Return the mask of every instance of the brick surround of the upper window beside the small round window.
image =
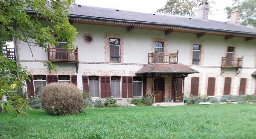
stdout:
{"type": "Polygon", "coordinates": [[[124,61],[124,36],[121,33],[104,33],[104,54],[105,54],[105,62],[110,62],[110,50],[109,50],[109,39],[115,38],[120,41],[120,63],[124,61]]]}

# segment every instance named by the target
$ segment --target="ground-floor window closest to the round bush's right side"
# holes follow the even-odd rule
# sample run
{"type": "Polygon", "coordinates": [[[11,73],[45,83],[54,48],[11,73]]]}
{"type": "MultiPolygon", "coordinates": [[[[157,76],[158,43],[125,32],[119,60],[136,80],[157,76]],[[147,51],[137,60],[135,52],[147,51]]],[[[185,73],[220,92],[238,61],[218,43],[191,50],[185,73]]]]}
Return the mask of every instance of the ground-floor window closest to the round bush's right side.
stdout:
{"type": "Polygon", "coordinates": [[[99,76],[89,76],[89,92],[92,98],[100,97],[99,76]]]}

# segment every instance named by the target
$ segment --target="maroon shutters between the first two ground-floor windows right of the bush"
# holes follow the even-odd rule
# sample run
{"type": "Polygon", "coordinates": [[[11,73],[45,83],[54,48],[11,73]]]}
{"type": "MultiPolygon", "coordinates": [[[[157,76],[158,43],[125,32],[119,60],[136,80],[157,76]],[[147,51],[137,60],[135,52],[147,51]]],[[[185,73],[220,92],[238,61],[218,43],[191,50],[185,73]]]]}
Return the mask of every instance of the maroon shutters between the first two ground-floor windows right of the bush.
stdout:
{"type": "Polygon", "coordinates": [[[101,98],[111,97],[110,76],[100,77],[101,98]]]}

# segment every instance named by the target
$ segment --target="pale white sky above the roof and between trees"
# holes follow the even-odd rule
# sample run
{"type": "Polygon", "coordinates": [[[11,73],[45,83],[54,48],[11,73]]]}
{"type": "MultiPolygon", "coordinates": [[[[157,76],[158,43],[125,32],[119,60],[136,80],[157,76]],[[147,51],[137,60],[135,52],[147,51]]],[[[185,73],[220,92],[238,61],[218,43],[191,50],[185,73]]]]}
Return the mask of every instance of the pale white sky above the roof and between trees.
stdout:
{"type": "MultiPolygon", "coordinates": [[[[210,4],[212,14],[208,16],[210,20],[226,22],[227,14],[224,8],[231,6],[233,0],[214,0],[215,4],[210,4]]],[[[76,4],[113,8],[118,10],[137,11],[146,13],[155,13],[157,9],[164,7],[166,0],[76,0],[76,4]]],[[[10,48],[13,43],[9,42],[10,48]]]]}

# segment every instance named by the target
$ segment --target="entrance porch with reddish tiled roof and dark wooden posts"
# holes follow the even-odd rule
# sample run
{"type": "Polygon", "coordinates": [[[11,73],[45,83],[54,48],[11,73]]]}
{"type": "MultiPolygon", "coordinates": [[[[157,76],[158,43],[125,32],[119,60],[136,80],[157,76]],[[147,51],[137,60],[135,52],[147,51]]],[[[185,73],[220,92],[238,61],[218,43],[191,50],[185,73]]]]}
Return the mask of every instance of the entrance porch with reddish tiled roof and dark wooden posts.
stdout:
{"type": "MultiPolygon", "coordinates": [[[[158,88],[158,87],[156,87],[157,86],[156,84],[158,84],[157,80],[159,80],[160,76],[169,75],[168,77],[172,77],[172,83],[169,84],[172,88],[171,98],[174,100],[174,102],[183,102],[184,78],[187,77],[188,74],[192,74],[192,73],[198,73],[198,71],[196,71],[184,64],[154,63],[154,64],[148,64],[148,65],[143,66],[135,74],[143,75],[143,82],[144,81],[147,82],[147,78],[151,77],[151,81],[152,81],[151,82],[151,85],[152,85],[151,86],[151,94],[155,95],[154,102],[156,103],[156,102],[164,102],[164,95],[163,95],[164,90],[158,91],[158,89],[156,89],[156,88],[158,88]]],[[[146,86],[147,86],[146,84],[143,87],[143,95],[146,94],[146,86]]]]}

